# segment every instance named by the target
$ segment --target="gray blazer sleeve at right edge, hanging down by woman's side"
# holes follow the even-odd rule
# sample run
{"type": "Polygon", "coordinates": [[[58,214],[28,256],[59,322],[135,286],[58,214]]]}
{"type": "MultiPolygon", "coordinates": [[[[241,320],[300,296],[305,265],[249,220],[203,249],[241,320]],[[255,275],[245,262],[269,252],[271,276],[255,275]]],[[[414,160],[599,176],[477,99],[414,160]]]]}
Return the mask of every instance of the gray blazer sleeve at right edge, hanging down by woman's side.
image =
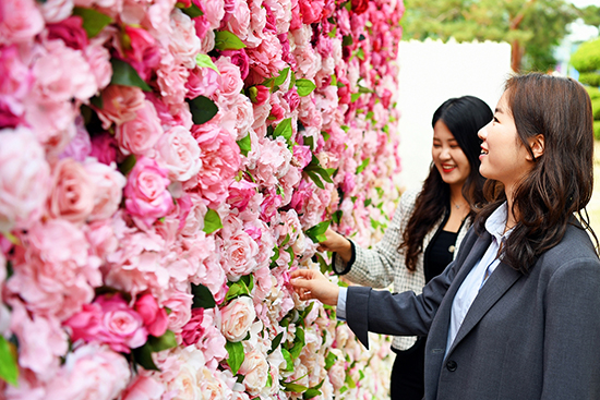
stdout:
{"type": "Polygon", "coordinates": [[[545,291],[542,399],[600,399],[600,265],[573,260],[545,291]]]}

